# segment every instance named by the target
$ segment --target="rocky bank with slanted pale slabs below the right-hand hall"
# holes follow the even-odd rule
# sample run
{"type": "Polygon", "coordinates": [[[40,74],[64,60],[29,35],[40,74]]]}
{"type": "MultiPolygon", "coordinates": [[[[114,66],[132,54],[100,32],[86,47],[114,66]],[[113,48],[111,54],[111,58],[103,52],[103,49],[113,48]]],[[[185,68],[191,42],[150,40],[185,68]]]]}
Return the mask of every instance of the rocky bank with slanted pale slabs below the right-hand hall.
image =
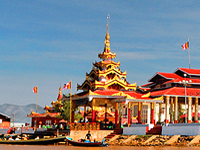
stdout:
{"type": "Polygon", "coordinates": [[[135,147],[199,147],[200,138],[193,141],[196,136],[179,136],[173,141],[174,136],[163,135],[116,135],[108,140],[109,146],[135,146],[135,147]],[[169,143],[169,141],[172,141],[169,143]]]}

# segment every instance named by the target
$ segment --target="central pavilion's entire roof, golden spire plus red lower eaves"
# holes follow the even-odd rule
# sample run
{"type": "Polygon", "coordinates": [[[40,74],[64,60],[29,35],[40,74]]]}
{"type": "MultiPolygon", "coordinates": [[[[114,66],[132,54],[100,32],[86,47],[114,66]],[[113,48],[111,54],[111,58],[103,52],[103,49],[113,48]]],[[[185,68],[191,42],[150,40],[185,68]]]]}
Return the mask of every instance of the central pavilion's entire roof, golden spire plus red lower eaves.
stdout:
{"type": "MultiPolygon", "coordinates": [[[[95,62],[90,73],[86,73],[86,80],[82,85],[77,85],[77,89],[83,92],[72,95],[76,106],[91,106],[93,99],[97,99],[95,101],[97,107],[109,104],[106,102],[108,99],[112,102],[163,102],[163,97],[150,98],[150,93],[146,92],[149,88],[140,88],[136,83],[127,82],[127,72],[120,70],[120,62],[113,61],[116,54],[110,50],[108,27],[104,51],[98,56],[101,61],[95,62]]],[[[65,100],[69,101],[70,97],[64,95],[63,101],[65,100]]],[[[109,105],[112,105],[112,102],[109,105]]]]}

